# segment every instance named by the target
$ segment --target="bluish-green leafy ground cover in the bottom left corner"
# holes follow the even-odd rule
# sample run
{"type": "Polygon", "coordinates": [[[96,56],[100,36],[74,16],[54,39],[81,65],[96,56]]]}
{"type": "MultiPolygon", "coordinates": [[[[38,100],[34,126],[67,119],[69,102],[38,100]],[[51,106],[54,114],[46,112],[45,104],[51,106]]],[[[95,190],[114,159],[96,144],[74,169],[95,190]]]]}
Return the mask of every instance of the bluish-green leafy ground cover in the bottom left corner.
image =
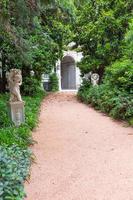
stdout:
{"type": "Polygon", "coordinates": [[[0,199],[21,200],[29,175],[31,152],[18,146],[0,146],[0,199]]]}

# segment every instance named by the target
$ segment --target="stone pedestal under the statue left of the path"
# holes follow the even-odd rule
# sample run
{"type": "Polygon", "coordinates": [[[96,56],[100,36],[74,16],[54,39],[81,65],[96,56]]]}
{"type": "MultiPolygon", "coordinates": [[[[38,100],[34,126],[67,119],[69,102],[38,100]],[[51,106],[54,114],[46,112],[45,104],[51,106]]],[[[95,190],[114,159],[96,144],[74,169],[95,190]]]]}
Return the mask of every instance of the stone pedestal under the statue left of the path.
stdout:
{"type": "Polygon", "coordinates": [[[23,101],[9,102],[8,107],[11,121],[15,126],[20,126],[25,122],[23,101]]]}

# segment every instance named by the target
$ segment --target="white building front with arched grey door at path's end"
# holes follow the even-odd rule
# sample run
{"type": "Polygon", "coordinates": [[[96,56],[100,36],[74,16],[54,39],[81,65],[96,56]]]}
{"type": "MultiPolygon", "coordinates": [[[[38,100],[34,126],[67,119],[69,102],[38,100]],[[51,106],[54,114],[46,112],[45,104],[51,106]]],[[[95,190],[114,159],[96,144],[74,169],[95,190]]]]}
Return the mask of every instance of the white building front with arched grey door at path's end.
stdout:
{"type": "Polygon", "coordinates": [[[64,51],[62,60],[58,60],[56,63],[60,91],[78,90],[80,87],[82,79],[77,63],[81,61],[82,57],[81,52],[68,50],[64,51]]]}

